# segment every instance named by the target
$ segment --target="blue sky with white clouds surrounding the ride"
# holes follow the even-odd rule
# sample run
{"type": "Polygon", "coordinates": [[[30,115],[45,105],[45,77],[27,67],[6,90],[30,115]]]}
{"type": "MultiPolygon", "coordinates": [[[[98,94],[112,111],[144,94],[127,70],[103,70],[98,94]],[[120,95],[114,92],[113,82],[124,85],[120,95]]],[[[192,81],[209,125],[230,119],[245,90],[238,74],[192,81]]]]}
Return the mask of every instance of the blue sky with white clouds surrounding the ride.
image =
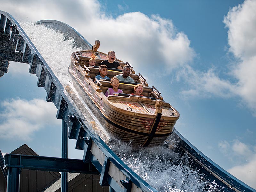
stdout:
{"type": "MultiPolygon", "coordinates": [[[[99,39],[100,51],[114,50],[179,111],[176,130],[256,188],[255,0],[0,0],[0,10],[20,20],[62,21],[91,44],[99,39]]],[[[26,143],[41,156],[61,156],[57,109],[28,69],[12,62],[0,78],[0,149],[26,143]]]]}

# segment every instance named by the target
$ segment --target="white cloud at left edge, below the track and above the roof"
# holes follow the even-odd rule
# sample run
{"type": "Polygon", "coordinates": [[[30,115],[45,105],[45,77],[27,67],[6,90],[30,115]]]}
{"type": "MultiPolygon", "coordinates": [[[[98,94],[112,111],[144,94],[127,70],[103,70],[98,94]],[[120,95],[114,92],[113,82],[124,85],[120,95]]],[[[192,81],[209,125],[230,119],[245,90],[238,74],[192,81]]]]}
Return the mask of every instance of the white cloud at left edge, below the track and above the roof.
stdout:
{"type": "Polygon", "coordinates": [[[56,119],[57,109],[41,99],[20,98],[1,102],[4,111],[0,113],[0,138],[31,140],[31,136],[48,124],[60,125],[56,119]]]}

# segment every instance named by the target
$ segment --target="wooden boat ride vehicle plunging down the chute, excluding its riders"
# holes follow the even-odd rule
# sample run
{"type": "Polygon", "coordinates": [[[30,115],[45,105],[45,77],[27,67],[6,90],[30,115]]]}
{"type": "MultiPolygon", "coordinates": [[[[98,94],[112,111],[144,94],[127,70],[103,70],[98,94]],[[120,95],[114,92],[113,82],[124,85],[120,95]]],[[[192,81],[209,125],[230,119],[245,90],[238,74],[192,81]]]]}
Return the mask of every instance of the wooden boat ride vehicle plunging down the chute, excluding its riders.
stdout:
{"type": "MultiPolygon", "coordinates": [[[[73,52],[69,73],[88,94],[94,106],[100,110],[100,115],[106,122],[106,129],[123,141],[148,146],[159,145],[174,131],[174,125],[180,114],[169,103],[164,102],[161,93],[152,86],[148,86],[146,79],[136,74],[129,63],[116,59],[123,67],[130,65],[135,83],[120,81],[118,89],[123,93],[105,96],[110,85],[110,79],[96,79],[99,66],[103,60],[108,60],[107,54],[97,49],[100,42],[95,41],[92,50],[73,52]],[[94,57],[96,65],[89,67],[89,59],[94,57]],[[130,95],[136,84],[143,84],[143,95],[130,95]]],[[[122,74],[122,70],[108,68],[108,77],[122,74]]]]}

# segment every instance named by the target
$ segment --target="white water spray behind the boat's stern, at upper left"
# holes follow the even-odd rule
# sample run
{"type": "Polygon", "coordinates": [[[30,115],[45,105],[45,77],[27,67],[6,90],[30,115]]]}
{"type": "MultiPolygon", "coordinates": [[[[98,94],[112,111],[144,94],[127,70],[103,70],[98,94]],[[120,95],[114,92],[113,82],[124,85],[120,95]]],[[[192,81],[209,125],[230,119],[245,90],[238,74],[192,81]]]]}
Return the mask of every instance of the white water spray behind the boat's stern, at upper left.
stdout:
{"type": "Polygon", "coordinates": [[[71,61],[70,56],[72,52],[81,50],[72,47],[74,39],[64,40],[63,33],[51,28],[47,29],[44,25],[36,25],[23,21],[20,21],[20,25],[54,74],[58,77],[60,83],[66,86],[71,79],[68,73],[68,66],[71,61]]]}

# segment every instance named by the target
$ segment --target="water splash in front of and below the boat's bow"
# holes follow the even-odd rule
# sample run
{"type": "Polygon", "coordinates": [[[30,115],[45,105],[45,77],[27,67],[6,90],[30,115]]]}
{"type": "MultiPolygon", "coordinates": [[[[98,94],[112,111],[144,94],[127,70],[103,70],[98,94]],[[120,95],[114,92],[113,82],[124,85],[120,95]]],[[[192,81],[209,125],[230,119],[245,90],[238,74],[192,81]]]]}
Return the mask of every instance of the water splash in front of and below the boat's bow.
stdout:
{"type": "MultiPolygon", "coordinates": [[[[173,146],[172,146],[173,147],[173,146]]],[[[193,170],[190,157],[180,156],[166,145],[142,148],[114,140],[110,148],[143,180],[158,191],[205,191],[207,181],[193,170]],[[138,150],[140,149],[140,150],[138,150]]]]}

